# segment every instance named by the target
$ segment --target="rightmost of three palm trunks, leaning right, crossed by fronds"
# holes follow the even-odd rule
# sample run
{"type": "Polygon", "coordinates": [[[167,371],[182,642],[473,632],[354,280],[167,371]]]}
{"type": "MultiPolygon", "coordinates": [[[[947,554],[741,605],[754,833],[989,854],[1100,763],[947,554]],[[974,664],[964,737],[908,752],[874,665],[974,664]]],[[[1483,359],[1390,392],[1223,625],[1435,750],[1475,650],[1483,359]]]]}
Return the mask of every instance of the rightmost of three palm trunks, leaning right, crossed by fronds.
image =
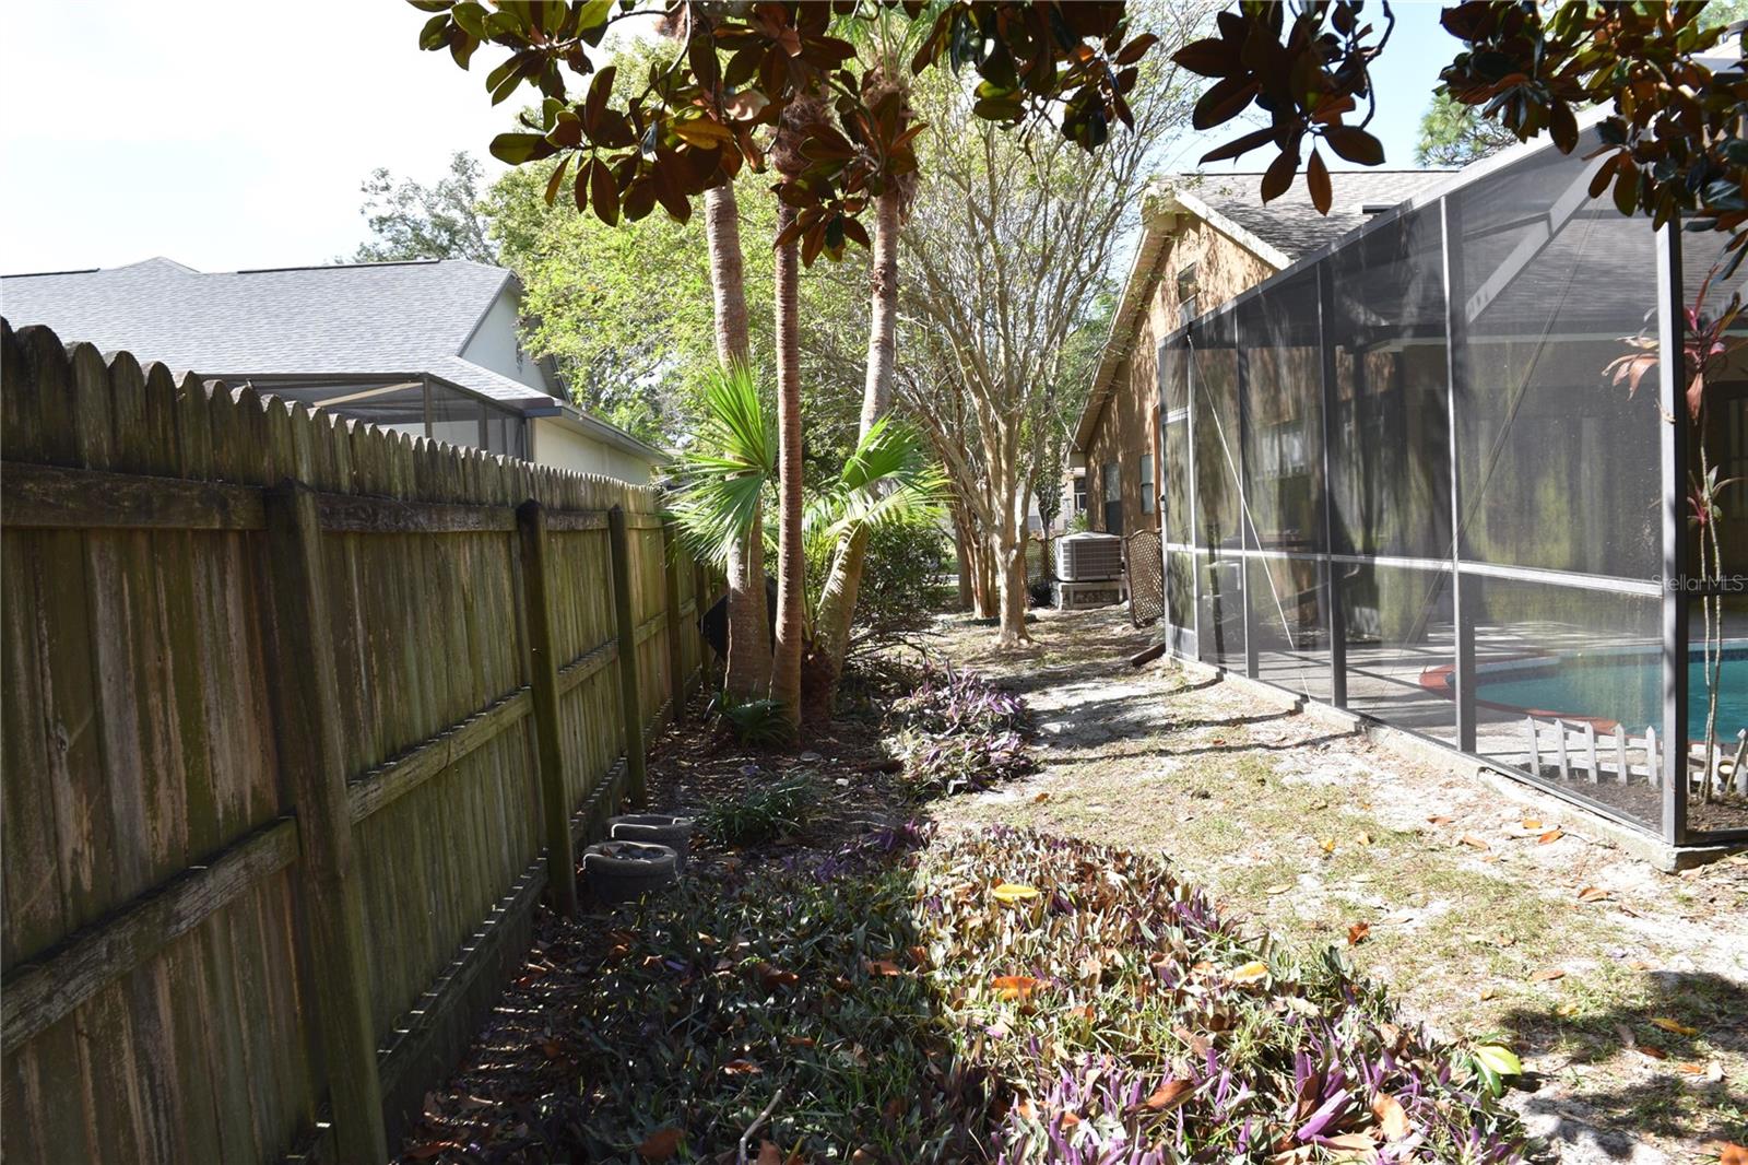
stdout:
{"type": "MultiPolygon", "coordinates": [[[[898,192],[888,191],[874,199],[874,259],[872,294],[869,311],[867,380],[862,387],[860,437],[891,411],[893,380],[898,364],[898,192]]],[[[857,591],[862,588],[862,565],[867,558],[867,530],[846,530],[837,539],[832,570],[820,591],[820,616],[815,619],[815,652],[820,656],[816,673],[825,691],[809,698],[809,707],[830,715],[837,701],[837,677],[850,652],[850,630],[857,614],[857,591]]]]}

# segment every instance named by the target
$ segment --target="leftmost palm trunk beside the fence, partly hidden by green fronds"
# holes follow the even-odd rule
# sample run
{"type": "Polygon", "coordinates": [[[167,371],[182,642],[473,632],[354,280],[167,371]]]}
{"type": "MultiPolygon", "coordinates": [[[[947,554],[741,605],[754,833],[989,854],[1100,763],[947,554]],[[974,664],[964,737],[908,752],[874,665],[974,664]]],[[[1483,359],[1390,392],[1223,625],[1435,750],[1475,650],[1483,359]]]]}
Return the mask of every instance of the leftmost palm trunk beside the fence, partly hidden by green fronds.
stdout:
{"type": "MultiPolygon", "coordinates": [[[[722,367],[752,362],[746,336],[746,273],[734,187],[704,191],[704,241],[722,367]]],[[[729,661],[724,684],[736,700],[759,700],[771,687],[771,619],[764,588],[764,521],[755,513],[745,546],[729,549],[729,661]]]]}

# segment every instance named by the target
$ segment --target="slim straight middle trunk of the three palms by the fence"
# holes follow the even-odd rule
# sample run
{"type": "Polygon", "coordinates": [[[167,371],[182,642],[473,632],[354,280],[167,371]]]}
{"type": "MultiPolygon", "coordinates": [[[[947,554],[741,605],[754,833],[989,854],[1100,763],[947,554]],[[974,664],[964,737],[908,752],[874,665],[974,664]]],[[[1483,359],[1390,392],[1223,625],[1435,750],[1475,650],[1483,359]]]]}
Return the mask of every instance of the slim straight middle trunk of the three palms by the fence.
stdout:
{"type": "MultiPolygon", "coordinates": [[[[795,208],[778,203],[781,234],[795,208]]],[[[778,434],[778,579],[776,654],[771,661],[771,698],[783,705],[790,724],[801,722],[801,637],[808,602],[808,562],[801,544],[801,336],[795,290],[801,243],[776,248],[776,434],[778,434]]]]}

